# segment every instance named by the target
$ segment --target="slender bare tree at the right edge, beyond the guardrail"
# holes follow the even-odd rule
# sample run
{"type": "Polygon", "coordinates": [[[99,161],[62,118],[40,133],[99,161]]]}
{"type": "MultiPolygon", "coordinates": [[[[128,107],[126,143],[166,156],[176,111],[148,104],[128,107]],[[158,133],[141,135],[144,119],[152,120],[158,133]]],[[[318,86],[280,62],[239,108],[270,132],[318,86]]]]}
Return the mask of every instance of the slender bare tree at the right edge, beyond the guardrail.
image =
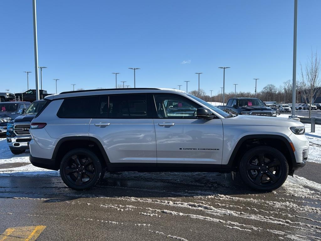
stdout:
{"type": "Polygon", "coordinates": [[[320,57],[317,52],[314,54],[311,50],[311,56],[308,57],[307,63],[303,70],[302,64],[300,73],[300,85],[302,87],[301,95],[305,102],[309,102],[309,118],[311,118],[311,104],[314,101],[314,96],[320,93],[321,79],[320,79],[320,57]]]}

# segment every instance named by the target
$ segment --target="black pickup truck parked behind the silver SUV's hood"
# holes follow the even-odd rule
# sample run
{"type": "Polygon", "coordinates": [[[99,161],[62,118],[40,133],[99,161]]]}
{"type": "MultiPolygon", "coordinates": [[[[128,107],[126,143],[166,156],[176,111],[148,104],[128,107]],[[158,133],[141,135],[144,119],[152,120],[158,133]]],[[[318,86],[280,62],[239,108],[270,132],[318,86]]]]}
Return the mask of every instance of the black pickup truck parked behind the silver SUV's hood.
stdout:
{"type": "Polygon", "coordinates": [[[236,115],[276,116],[276,111],[267,107],[263,101],[257,98],[231,98],[226,106],[217,106],[222,111],[236,115]]]}

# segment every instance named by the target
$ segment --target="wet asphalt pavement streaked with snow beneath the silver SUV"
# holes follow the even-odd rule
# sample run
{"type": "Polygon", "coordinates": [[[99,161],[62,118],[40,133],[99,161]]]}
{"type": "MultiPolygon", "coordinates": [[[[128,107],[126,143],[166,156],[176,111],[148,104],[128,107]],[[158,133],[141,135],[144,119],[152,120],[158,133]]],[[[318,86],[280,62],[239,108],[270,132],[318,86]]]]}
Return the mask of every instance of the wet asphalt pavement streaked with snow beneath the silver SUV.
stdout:
{"type": "Polygon", "coordinates": [[[269,193],[238,174],[113,173],[83,192],[2,176],[0,240],[320,240],[319,172],[309,162],[269,193]]]}

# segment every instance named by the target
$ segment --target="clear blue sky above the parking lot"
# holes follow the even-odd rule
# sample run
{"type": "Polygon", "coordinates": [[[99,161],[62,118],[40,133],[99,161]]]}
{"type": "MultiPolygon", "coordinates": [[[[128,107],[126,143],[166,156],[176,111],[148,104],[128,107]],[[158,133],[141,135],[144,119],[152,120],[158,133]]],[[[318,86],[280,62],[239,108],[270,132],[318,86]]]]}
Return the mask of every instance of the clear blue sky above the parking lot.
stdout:
{"type": "MultiPolygon", "coordinates": [[[[220,93],[258,91],[292,78],[293,0],[83,1],[38,0],[38,56],[43,89],[201,88],[220,93]],[[185,63],[187,62],[187,63],[185,63]]],[[[297,61],[305,63],[321,41],[321,1],[299,0],[297,61]]],[[[0,1],[0,92],[35,88],[32,1],[0,1]]],[[[298,72],[298,71],[297,71],[298,72]]],[[[40,75],[39,75],[40,78],[40,75]]]]}

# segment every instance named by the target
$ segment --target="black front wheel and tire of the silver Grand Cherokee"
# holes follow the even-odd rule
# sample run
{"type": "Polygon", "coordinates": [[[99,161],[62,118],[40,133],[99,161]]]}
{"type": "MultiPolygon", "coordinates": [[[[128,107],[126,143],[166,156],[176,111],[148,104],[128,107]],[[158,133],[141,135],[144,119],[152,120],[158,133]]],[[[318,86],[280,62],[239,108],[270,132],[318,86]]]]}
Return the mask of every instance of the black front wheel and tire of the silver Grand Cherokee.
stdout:
{"type": "Polygon", "coordinates": [[[285,182],[289,174],[289,165],[279,150],[259,146],[243,155],[239,163],[239,172],[243,182],[249,187],[259,191],[273,191],[285,182]]]}

